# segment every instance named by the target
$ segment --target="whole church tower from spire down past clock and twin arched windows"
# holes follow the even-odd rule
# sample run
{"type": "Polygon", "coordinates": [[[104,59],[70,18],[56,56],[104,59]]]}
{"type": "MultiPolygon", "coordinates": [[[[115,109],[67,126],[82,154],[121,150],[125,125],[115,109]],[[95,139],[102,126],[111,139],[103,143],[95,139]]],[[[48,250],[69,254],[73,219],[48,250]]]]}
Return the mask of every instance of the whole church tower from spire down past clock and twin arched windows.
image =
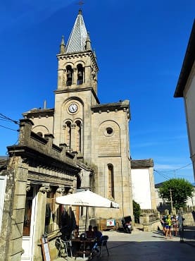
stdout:
{"type": "Polygon", "coordinates": [[[62,37],[58,59],[58,85],[55,90],[55,143],[67,146],[89,160],[91,144],[91,108],[97,97],[96,54],[80,10],[67,44],[62,37]],[[88,130],[88,131],[87,131],[88,130]],[[89,143],[84,142],[88,140],[89,143]]]}

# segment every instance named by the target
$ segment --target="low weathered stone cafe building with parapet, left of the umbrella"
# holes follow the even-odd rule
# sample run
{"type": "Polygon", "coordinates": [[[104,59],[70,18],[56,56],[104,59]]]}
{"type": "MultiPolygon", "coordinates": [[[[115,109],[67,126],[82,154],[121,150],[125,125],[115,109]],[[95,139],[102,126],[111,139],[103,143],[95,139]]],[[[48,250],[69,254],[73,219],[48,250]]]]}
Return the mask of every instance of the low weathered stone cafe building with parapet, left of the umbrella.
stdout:
{"type": "MultiPolygon", "coordinates": [[[[45,233],[46,203],[48,193],[54,197],[73,193],[76,188],[77,174],[80,168],[75,164],[74,155],[53,144],[53,136],[40,137],[32,132],[33,123],[29,119],[20,120],[20,138],[18,145],[8,147],[9,159],[1,176],[6,177],[6,190],[1,237],[0,260],[42,260],[40,238],[45,233]],[[32,200],[29,192],[32,191],[32,200]],[[32,206],[27,207],[32,203],[32,206]],[[25,227],[31,219],[29,234],[25,236],[25,227]],[[33,234],[33,236],[32,236],[33,234]],[[24,252],[24,245],[30,245],[33,252],[24,252]]],[[[53,200],[53,198],[51,199],[53,200]]],[[[54,205],[52,201],[51,205],[54,205]]],[[[52,209],[52,226],[49,243],[59,235],[57,206],[52,209]]],[[[25,245],[25,250],[27,250],[25,245]]],[[[53,244],[54,245],[54,244],[53,244]]],[[[56,257],[56,248],[51,248],[51,256],[56,257]]]]}

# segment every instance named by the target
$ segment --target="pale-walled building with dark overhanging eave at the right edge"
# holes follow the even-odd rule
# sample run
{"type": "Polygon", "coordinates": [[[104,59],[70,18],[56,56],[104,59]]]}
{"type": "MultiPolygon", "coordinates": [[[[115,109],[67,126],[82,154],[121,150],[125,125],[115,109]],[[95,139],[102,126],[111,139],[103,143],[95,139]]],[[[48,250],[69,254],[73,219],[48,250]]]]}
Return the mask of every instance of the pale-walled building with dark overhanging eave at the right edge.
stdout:
{"type": "Polygon", "coordinates": [[[195,178],[195,21],[187,45],[174,97],[184,98],[190,158],[195,178]]]}

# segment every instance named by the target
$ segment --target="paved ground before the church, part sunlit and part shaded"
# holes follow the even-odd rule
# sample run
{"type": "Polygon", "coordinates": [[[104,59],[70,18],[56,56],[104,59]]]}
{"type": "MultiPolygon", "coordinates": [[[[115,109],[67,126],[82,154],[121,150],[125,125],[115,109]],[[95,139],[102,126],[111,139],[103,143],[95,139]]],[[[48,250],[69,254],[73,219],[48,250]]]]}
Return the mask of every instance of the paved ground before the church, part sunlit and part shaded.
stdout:
{"type": "MultiPolygon", "coordinates": [[[[180,236],[165,239],[161,231],[143,232],[134,228],[131,234],[118,231],[103,231],[109,236],[108,256],[103,250],[102,257],[94,257],[92,261],[194,261],[195,227],[184,227],[184,243],[180,243],[180,236]],[[165,249],[165,251],[163,250],[165,249]],[[177,249],[177,251],[172,251],[177,249]]],[[[57,258],[55,261],[65,261],[57,258]]],[[[68,257],[68,261],[79,261],[82,258],[68,257]]]]}

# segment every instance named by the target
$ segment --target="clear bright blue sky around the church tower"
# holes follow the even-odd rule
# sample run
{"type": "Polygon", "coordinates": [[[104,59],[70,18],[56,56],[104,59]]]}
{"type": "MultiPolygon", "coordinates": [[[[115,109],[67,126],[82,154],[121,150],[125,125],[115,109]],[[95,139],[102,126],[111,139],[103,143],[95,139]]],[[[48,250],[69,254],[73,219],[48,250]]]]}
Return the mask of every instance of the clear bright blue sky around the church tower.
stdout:
{"type": "MultiPolygon", "coordinates": [[[[1,1],[1,114],[18,121],[44,100],[54,107],[56,54],[61,35],[67,42],[73,28],[77,3],[1,1]]],[[[155,183],[174,177],[194,182],[184,102],[173,97],[194,10],[191,0],[84,0],[82,6],[99,64],[100,102],[130,100],[131,157],[153,159],[155,183]]],[[[0,125],[0,154],[6,155],[18,126],[0,125]]]]}

